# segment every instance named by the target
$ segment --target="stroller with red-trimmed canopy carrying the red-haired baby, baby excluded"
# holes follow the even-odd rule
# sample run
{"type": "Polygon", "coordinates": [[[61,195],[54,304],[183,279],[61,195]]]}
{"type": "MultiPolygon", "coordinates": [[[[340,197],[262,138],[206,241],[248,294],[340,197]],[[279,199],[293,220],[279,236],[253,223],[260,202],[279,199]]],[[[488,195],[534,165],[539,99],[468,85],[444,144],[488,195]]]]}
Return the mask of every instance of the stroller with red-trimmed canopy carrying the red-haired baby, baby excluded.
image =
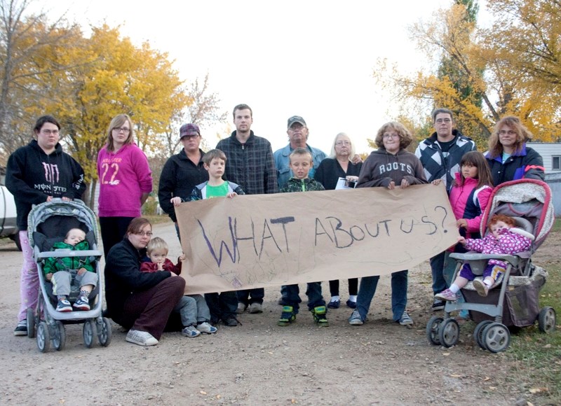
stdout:
{"type": "Polygon", "coordinates": [[[534,179],[520,179],[494,188],[482,216],[481,235],[485,235],[493,214],[514,217],[518,228],[534,236],[532,246],[529,251],[516,255],[452,253],[450,258],[457,261],[454,279],[465,263],[475,275],[483,274],[489,259],[503,260],[508,266],[502,281],[496,281],[496,288],[489,290],[487,297],[478,295],[473,283],[469,282],[461,289],[466,302],[446,302],[444,317],[431,317],[426,325],[426,337],[431,344],[450,347],[458,343],[459,324],[450,316],[455,310],[469,311],[471,319],[478,323],[473,332],[475,341],[482,349],[491,352],[508,348],[511,342],[509,327],[527,327],[537,320],[542,332],[555,330],[555,309],[539,309],[539,291],[548,274],[532,263],[532,254],[546,239],[555,220],[548,185],[534,179]]]}

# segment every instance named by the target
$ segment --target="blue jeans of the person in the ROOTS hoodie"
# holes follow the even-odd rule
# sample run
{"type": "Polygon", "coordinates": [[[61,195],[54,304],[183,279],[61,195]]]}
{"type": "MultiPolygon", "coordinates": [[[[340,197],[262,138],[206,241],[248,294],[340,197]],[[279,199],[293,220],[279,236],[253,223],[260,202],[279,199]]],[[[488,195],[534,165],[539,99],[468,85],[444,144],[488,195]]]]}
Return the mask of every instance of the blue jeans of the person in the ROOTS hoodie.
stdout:
{"type": "MultiPolygon", "coordinates": [[[[380,276],[364,276],[360,279],[358,297],[356,298],[356,309],[360,317],[365,320],[370,303],[376,293],[380,276]]],[[[391,311],[393,321],[399,321],[407,306],[407,270],[393,272],[391,274],[391,311]]]]}

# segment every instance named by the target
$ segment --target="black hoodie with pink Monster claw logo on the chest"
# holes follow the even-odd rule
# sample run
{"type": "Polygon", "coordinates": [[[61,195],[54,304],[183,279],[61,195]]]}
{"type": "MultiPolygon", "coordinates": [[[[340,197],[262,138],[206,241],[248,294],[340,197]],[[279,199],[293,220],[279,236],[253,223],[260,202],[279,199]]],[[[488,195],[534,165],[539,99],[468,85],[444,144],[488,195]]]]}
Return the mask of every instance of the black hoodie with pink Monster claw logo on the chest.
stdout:
{"type": "Polygon", "coordinates": [[[48,196],[81,199],[86,183],[83,169],[57,144],[47,155],[36,140],[18,148],[8,158],[6,187],[15,200],[18,228],[27,228],[27,215],[33,204],[46,202],[48,196]]]}

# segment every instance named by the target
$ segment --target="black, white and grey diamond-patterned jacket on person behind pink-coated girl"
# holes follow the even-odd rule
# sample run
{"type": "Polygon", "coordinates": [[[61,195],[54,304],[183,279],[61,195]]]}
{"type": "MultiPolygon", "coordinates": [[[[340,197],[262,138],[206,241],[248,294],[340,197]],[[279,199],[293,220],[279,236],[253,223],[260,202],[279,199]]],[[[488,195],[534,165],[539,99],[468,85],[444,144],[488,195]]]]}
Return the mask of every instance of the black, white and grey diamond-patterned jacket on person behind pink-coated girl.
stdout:
{"type": "Polygon", "coordinates": [[[421,142],[417,146],[417,150],[415,150],[415,155],[417,155],[417,158],[421,160],[423,165],[426,180],[432,182],[435,179],[442,179],[448,192],[452,188],[452,181],[454,181],[456,172],[460,170],[461,157],[466,152],[477,151],[478,149],[473,139],[466,137],[458,130],[452,130],[452,134],[456,138],[454,139],[454,144],[450,146],[446,158],[442,155],[442,149],[440,149],[440,144],[438,144],[436,139],[436,133],[433,133],[431,137],[421,142]]]}

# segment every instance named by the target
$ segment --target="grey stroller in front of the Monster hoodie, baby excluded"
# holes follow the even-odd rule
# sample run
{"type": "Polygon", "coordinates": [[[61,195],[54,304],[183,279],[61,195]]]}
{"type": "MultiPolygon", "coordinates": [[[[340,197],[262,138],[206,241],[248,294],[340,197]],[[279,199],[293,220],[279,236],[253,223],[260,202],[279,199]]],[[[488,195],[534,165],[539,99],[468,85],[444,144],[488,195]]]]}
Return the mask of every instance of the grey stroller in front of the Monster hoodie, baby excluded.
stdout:
{"type": "MultiPolygon", "coordinates": [[[[39,270],[39,300],[36,309],[27,309],[27,335],[33,338],[36,333],[39,351],[46,352],[50,344],[60,351],[66,342],[66,324],[83,323],[83,342],[87,348],[93,346],[95,337],[102,346],[111,342],[111,322],[102,317],[102,279],[100,274],[101,251],[97,249],[97,221],[93,211],[79,200],[65,202],[53,199],[51,202],[39,204],[29,212],[27,233],[29,244],[33,248],[34,260],[39,270]],[[86,232],[88,251],[71,251],[58,249],[51,251],[55,242],[62,241],[72,228],[81,228],[86,232]],[[46,281],[43,265],[46,258],[63,257],[88,258],[95,264],[97,285],[90,293],[90,310],[87,311],[56,311],[57,297],[53,295],[52,284],[46,281]],[[36,328],[36,330],[35,330],[36,328]]],[[[72,291],[70,302],[74,302],[79,287],[74,285],[75,269],[68,269],[72,274],[72,291]]]]}

